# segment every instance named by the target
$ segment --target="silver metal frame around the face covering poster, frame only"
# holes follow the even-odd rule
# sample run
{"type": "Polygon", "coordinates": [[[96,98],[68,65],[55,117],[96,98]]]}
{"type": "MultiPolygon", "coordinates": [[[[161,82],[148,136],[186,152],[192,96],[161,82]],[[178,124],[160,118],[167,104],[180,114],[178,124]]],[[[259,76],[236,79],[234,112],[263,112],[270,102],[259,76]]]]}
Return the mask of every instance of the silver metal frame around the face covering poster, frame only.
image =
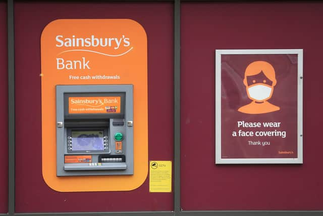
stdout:
{"type": "Polygon", "coordinates": [[[216,50],[216,164],[303,163],[303,50],[216,50]],[[297,54],[297,158],[221,158],[221,56],[297,54]]]}

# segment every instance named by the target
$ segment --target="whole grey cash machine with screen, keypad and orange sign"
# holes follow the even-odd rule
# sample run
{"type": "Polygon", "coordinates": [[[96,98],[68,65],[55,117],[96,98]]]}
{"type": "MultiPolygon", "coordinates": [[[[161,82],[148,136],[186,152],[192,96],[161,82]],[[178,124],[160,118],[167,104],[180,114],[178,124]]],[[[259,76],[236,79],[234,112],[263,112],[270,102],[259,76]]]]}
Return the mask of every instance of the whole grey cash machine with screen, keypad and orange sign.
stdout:
{"type": "Polygon", "coordinates": [[[57,85],[57,176],[133,175],[133,86],[57,85]]]}

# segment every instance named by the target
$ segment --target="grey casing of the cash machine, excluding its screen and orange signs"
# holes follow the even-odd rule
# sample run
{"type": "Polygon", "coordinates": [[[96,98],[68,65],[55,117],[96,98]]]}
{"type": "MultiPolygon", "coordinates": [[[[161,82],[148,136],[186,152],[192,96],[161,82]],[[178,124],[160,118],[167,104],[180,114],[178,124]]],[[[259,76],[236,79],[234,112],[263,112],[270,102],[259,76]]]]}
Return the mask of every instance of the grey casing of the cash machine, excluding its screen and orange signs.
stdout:
{"type": "Polygon", "coordinates": [[[133,85],[57,85],[56,86],[56,124],[57,124],[57,176],[100,176],[100,175],[133,175],[133,85]],[[104,127],[104,133],[109,134],[106,141],[109,141],[109,150],[106,152],[92,153],[71,153],[68,152],[68,132],[71,125],[68,125],[67,110],[68,103],[64,95],[75,95],[82,97],[84,95],[104,94],[123,94],[124,106],[123,113],[116,115],[114,113],[103,114],[81,114],[77,115],[76,123],[78,128],[104,127]],[[114,116],[117,116],[116,118],[114,116]],[[91,116],[93,121],[91,121],[91,116]],[[98,118],[99,117],[99,118],[98,118]],[[95,125],[96,120],[98,126],[95,125]],[[102,125],[105,120],[105,125],[102,125]],[[90,122],[89,122],[90,121],[90,122]],[[101,121],[101,122],[99,122],[101,121]],[[124,122],[123,125],[117,125],[115,122],[124,122]],[[84,124],[84,125],[83,125],[84,124]],[[83,127],[84,126],[84,127],[83,127]],[[116,153],[116,141],[114,135],[122,133],[122,153],[116,153]],[[65,163],[65,155],[91,155],[91,163],[65,163]],[[107,159],[111,158],[111,159],[107,159]],[[120,158],[122,161],[103,161],[115,160],[120,158]]]}

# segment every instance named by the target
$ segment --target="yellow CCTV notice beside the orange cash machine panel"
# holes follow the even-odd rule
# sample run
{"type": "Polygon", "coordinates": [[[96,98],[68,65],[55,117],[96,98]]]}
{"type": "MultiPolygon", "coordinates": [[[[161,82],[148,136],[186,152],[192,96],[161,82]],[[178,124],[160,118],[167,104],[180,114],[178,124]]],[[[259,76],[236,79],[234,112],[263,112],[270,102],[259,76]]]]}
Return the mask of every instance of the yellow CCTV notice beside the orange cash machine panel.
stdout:
{"type": "Polygon", "coordinates": [[[149,161],[149,192],[172,192],[172,161],[149,161]]]}

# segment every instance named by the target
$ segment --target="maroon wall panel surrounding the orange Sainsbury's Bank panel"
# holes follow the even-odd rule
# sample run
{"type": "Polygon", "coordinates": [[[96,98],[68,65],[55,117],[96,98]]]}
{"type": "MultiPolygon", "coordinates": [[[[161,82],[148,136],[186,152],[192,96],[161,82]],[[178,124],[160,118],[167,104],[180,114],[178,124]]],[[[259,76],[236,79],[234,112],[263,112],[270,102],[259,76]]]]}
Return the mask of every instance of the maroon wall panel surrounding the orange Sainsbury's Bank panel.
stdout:
{"type": "MultiPolygon", "coordinates": [[[[148,177],[141,187],[126,192],[60,193],[44,183],[40,35],[49,22],[62,18],[129,18],[144,27],[148,38],[149,160],[173,159],[173,4],[18,2],[15,4],[16,211],[173,210],[173,194],[149,193],[148,177]],[[163,112],[159,104],[165,105],[163,112]]],[[[148,161],[143,165],[148,165],[148,161]]]]}

